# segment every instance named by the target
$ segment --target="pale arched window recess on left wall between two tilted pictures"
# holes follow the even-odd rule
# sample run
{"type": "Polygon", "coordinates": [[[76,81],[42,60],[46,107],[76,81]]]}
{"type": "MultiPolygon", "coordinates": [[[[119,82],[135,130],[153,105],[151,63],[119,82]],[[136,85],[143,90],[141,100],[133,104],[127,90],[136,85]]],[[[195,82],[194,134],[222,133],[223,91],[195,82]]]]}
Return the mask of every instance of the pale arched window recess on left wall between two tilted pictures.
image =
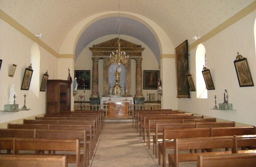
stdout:
{"type": "Polygon", "coordinates": [[[30,51],[30,62],[32,63],[33,75],[30,83],[30,89],[33,93],[39,97],[39,90],[40,90],[40,51],[39,46],[37,43],[34,43],[31,46],[30,51]]]}

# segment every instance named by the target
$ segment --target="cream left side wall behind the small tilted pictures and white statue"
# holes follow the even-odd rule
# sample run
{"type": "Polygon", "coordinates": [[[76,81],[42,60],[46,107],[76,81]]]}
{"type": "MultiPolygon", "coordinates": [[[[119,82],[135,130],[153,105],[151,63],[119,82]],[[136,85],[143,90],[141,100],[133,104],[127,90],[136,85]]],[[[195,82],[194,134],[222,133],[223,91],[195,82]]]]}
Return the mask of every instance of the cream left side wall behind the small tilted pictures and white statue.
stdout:
{"type": "MultiPolygon", "coordinates": [[[[34,43],[31,39],[17,31],[15,28],[0,19],[0,59],[3,60],[0,70],[0,109],[4,110],[4,105],[8,104],[10,86],[15,84],[16,104],[19,108],[24,105],[24,94],[26,97],[26,106],[29,111],[19,112],[0,112],[0,124],[8,121],[36,116],[45,113],[46,92],[35,94],[31,89],[20,90],[25,68],[30,65],[31,47],[34,43]],[[13,77],[8,76],[11,64],[16,64],[16,70],[13,77]],[[38,96],[39,95],[39,96],[38,96]]],[[[48,69],[49,79],[56,79],[57,76],[57,58],[39,46],[40,50],[40,69],[39,83],[42,76],[48,69]]],[[[33,67],[33,64],[32,64],[33,67]]],[[[30,86],[35,84],[32,80],[30,86]]]]}

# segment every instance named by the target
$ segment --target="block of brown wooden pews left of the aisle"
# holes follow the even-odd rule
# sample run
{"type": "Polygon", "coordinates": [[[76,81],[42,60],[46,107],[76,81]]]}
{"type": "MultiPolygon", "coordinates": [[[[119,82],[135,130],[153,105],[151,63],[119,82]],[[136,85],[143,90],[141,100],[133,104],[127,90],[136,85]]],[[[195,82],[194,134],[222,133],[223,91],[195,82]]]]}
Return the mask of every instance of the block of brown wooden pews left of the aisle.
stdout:
{"type": "Polygon", "coordinates": [[[13,166],[33,159],[49,160],[47,163],[52,162],[52,166],[89,166],[104,127],[103,114],[103,110],[59,112],[23,120],[23,124],[8,124],[7,129],[0,129],[0,164],[9,162],[13,166]]]}

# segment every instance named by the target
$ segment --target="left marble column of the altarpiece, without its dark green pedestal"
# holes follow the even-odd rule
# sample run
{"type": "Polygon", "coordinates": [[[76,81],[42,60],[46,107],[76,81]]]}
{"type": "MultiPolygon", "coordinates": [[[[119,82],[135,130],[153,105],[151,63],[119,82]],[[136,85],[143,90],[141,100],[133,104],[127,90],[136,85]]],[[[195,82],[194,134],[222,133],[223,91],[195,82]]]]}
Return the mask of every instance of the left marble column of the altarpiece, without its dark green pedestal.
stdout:
{"type": "Polygon", "coordinates": [[[99,58],[92,57],[92,94],[91,98],[97,98],[97,92],[99,91],[99,58]]]}

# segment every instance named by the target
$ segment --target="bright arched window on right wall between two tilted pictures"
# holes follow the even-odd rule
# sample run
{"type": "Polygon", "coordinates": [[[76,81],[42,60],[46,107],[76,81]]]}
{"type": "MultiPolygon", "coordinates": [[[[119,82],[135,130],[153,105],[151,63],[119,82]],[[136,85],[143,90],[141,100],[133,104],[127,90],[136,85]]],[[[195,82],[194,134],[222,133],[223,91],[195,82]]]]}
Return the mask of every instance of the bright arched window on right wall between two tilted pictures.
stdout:
{"type": "Polygon", "coordinates": [[[202,74],[203,65],[205,65],[205,47],[199,44],[196,51],[196,73],[197,73],[197,98],[207,99],[207,89],[202,74]]]}

